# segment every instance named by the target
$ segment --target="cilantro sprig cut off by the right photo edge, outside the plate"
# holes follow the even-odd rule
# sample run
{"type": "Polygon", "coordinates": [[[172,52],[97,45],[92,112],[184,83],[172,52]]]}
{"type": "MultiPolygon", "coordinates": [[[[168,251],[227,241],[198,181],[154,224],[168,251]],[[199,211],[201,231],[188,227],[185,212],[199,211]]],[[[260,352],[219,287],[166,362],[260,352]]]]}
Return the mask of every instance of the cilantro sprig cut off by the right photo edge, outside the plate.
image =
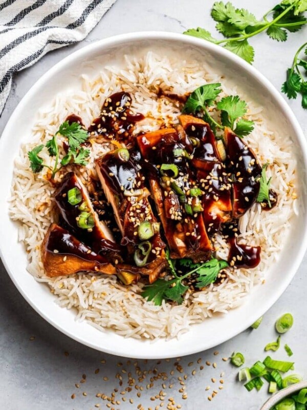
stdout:
{"type": "Polygon", "coordinates": [[[288,98],[302,97],[302,107],[307,109],[307,43],[304,43],[295,53],[292,67],[287,70],[287,80],[283,83],[281,91],[288,98]],[[301,58],[301,54],[304,57],[301,58]]]}

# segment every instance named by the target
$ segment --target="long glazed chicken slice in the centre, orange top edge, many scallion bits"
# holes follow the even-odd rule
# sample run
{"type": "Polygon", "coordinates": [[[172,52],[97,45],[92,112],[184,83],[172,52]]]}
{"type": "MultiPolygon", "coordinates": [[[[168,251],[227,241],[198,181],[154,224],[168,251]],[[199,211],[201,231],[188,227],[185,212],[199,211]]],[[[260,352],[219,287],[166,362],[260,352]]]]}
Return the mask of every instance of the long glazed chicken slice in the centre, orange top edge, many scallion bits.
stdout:
{"type": "Polygon", "coordinates": [[[212,247],[202,216],[202,192],[189,168],[184,139],[174,129],[137,137],[170,256],[198,262],[208,259],[212,247]]]}

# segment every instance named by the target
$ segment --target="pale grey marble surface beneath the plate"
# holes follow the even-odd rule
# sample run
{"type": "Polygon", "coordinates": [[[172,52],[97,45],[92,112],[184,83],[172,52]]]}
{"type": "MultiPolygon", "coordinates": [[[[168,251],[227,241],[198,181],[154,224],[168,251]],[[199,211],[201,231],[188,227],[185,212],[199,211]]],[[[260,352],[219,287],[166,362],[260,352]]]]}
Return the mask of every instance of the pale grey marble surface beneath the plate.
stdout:
{"type": "MultiPolygon", "coordinates": [[[[235,0],[238,7],[247,7],[256,15],[262,15],[275,4],[274,0],[258,0],[249,2],[247,0],[235,0]]],[[[210,17],[210,8],[213,0],[117,0],[115,6],[107,12],[98,26],[80,44],[54,51],[43,57],[35,66],[20,72],[14,77],[13,87],[4,113],[0,118],[0,132],[19,100],[25,95],[35,81],[57,63],[61,58],[74,50],[95,40],[114,34],[129,31],[160,30],[182,32],[184,29],[206,26],[214,30],[214,24],[210,17]]],[[[280,44],[270,40],[266,34],[261,34],[252,39],[255,46],[256,57],[254,66],[259,69],[277,89],[284,80],[285,70],[291,65],[295,50],[306,38],[307,28],[300,33],[292,34],[287,43],[280,44]]],[[[1,39],[0,39],[1,42],[1,39]]],[[[298,101],[290,101],[300,124],[307,133],[307,112],[300,108],[298,101]]],[[[1,232],[1,234],[5,234],[1,232]]],[[[296,362],[295,372],[301,373],[307,379],[307,350],[305,340],[307,339],[306,326],[306,297],[307,289],[307,258],[304,258],[291,285],[277,303],[266,314],[264,321],[257,331],[247,330],[228,342],[217,346],[216,349],[206,351],[197,355],[181,359],[183,373],[176,370],[174,362],[140,360],[138,366],[142,371],[149,372],[144,381],[137,383],[144,387],[143,391],[135,387],[131,393],[120,395],[121,389],[127,386],[127,373],[131,372],[136,377],[135,361],[127,363],[127,359],[104,355],[91,348],[69,339],[55,330],[49,323],[45,322],[27,302],[19,295],[13,283],[9,279],[3,265],[0,266],[0,408],[8,410],[40,410],[40,409],[95,409],[95,404],[100,408],[106,407],[106,400],[97,398],[97,393],[111,396],[114,388],[119,388],[116,399],[120,404],[111,404],[111,407],[120,409],[136,409],[142,404],[145,409],[154,409],[162,403],[160,399],[151,401],[150,397],[159,394],[163,389],[166,392],[164,405],[167,408],[167,399],[173,397],[176,403],[180,403],[183,409],[249,409],[258,410],[262,402],[267,398],[267,388],[264,387],[259,393],[247,393],[244,387],[235,380],[236,369],[228,362],[222,360],[233,351],[245,354],[247,364],[252,364],[259,358],[264,358],[263,346],[276,338],[273,324],[276,318],[291,311],[295,317],[293,330],[283,337],[283,341],[290,344],[294,351],[293,359],[296,362]],[[214,351],[220,352],[217,356],[214,351]],[[202,363],[196,361],[202,358],[202,363]],[[103,363],[101,362],[103,361],[103,363]],[[207,366],[206,360],[216,362],[216,368],[207,366]],[[105,361],[105,363],[104,363],[105,361]],[[118,362],[123,362],[120,367],[118,362]],[[193,362],[192,365],[188,363],[193,362]],[[200,366],[204,365],[201,370],[200,366]],[[155,373],[165,372],[168,379],[158,379],[152,388],[147,389],[150,383],[150,371],[155,373]],[[99,372],[97,373],[97,369],[99,372]],[[192,375],[192,371],[196,374],[192,375]],[[96,373],[95,373],[96,370],[96,373]],[[174,370],[174,374],[170,372],[174,370]],[[122,388],[118,386],[119,379],[116,374],[120,372],[123,377],[122,388]],[[221,372],[225,375],[223,389],[218,389],[222,384],[221,372]],[[82,375],[86,375],[85,383],[80,383],[82,375]],[[182,399],[179,389],[182,387],[178,377],[187,375],[185,392],[188,398],[182,399]],[[108,378],[104,380],[103,378],[108,378]],[[212,382],[211,378],[216,381],[212,382]],[[162,383],[166,388],[161,387],[162,383]],[[77,388],[75,383],[79,383],[77,388]],[[173,384],[169,388],[169,384],[173,384]],[[205,387],[211,386],[205,391],[205,387]],[[207,397],[216,388],[218,394],[210,402],[207,397]],[[86,393],[83,395],[82,393],[86,393]],[[136,394],[140,392],[139,398],[136,394]],[[74,399],[71,396],[75,394],[74,399]],[[126,401],[122,397],[127,397],[126,401]],[[134,402],[129,403],[129,398],[134,402]]],[[[282,275],[282,272],[280,272],[282,275]]],[[[210,337],[210,335],[204,335],[210,337]]],[[[155,348],[154,345],[152,348],[155,348]]],[[[137,352],[131,352],[131,356],[137,356],[137,352]]],[[[275,355],[276,358],[284,358],[286,355],[281,348],[275,355]]]]}

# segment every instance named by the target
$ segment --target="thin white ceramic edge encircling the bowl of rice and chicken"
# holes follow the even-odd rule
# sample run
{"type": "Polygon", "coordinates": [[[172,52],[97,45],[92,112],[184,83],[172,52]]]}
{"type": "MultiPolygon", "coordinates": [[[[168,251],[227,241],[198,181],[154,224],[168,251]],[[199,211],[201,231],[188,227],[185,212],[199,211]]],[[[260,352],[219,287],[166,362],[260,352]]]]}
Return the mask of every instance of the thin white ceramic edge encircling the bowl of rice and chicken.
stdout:
{"type": "MultiPolygon", "coordinates": [[[[302,151],[301,155],[302,155],[304,167],[306,167],[307,144],[306,144],[304,135],[302,133],[302,130],[298,124],[298,121],[294,117],[286,101],[284,101],[282,96],[273,87],[273,85],[269,82],[269,80],[264,77],[264,75],[262,75],[254,67],[246,63],[246,61],[237,57],[236,55],[234,55],[233,53],[229,52],[228,50],[222,47],[216,46],[209,42],[205,42],[205,40],[202,40],[199,38],[186,36],[183,34],[169,33],[169,32],[137,32],[137,33],[121,34],[121,35],[99,40],[98,42],[87,45],[75,51],[74,53],[70,54],[69,56],[65,57],[59,63],[57,63],[54,67],[52,67],[49,71],[47,71],[33,85],[33,87],[28,91],[28,93],[24,96],[24,98],[21,99],[20,103],[18,104],[15,111],[13,112],[10,120],[8,121],[8,124],[3,132],[3,135],[7,134],[7,130],[9,129],[10,124],[12,123],[12,121],[14,121],[15,118],[17,118],[19,113],[22,112],[22,110],[25,107],[25,104],[31,98],[31,95],[35,93],[37,90],[39,90],[41,85],[43,83],[46,83],[55,73],[60,72],[62,66],[64,66],[65,64],[71,63],[76,57],[83,56],[84,58],[86,58],[86,54],[89,53],[90,51],[99,50],[101,48],[106,48],[109,46],[117,46],[117,45],[120,45],[122,42],[127,42],[127,40],[134,41],[134,42],[137,42],[138,40],[165,40],[165,41],[174,41],[174,42],[177,41],[187,46],[195,46],[195,47],[204,49],[208,52],[214,52],[216,55],[223,57],[225,60],[232,61],[234,64],[242,68],[243,71],[247,72],[251,77],[253,77],[255,80],[257,79],[259,83],[264,85],[264,87],[269,91],[269,93],[273,96],[273,98],[277,101],[278,105],[281,107],[281,111],[288,117],[290,125],[295,130],[295,134],[296,134],[298,143],[302,151]]],[[[4,143],[5,143],[4,138],[0,138],[0,152],[3,151],[4,143]]],[[[16,288],[21,293],[21,295],[24,296],[24,298],[28,301],[28,303],[32,306],[32,308],[35,309],[43,318],[45,318],[48,322],[50,322],[54,327],[56,327],[56,329],[60,330],[65,335],[70,336],[71,338],[79,341],[80,343],[86,344],[90,347],[96,348],[97,350],[100,350],[106,353],[126,356],[126,357],[134,356],[138,358],[154,359],[154,358],[177,357],[177,356],[184,356],[188,354],[197,353],[197,352],[204,350],[205,348],[213,347],[214,345],[220,344],[236,336],[238,333],[246,330],[247,327],[249,327],[255,320],[257,320],[259,316],[263,315],[272,306],[272,304],[280,297],[283,291],[287,288],[295,272],[297,271],[303,259],[305,249],[307,248],[307,230],[305,230],[304,233],[302,234],[302,240],[300,242],[298,249],[296,249],[296,258],[293,260],[291,274],[288,275],[287,280],[283,280],[282,284],[279,286],[278,292],[275,292],[274,295],[272,295],[270,299],[267,299],[264,303],[262,303],[261,306],[259,306],[259,309],[252,312],[244,321],[237,323],[236,327],[232,327],[231,329],[229,329],[225,335],[223,334],[223,335],[220,335],[219,337],[215,337],[213,344],[212,343],[210,344],[208,340],[205,340],[206,338],[204,338],[204,342],[202,344],[196,343],[195,345],[193,343],[180,344],[180,340],[179,340],[178,345],[176,344],[176,349],[173,349],[171,351],[167,348],[168,342],[165,342],[164,351],[161,351],[161,350],[157,351],[156,348],[151,347],[154,345],[149,345],[150,346],[149,348],[144,348],[144,349],[142,348],[138,351],[133,352],[133,354],[131,354],[131,350],[129,350],[129,348],[125,347],[124,340],[123,340],[123,343],[121,343],[121,345],[119,345],[120,343],[118,343],[118,345],[114,348],[112,346],[105,347],[99,343],[96,343],[95,340],[84,340],[82,337],[75,335],[74,332],[71,332],[70,330],[66,329],[65,326],[59,323],[57,320],[54,320],[50,318],[47,314],[41,312],[38,306],[36,306],[33,300],[31,300],[28,290],[20,286],[18,280],[16,279],[14,275],[13,270],[10,269],[9,257],[6,258],[4,256],[5,247],[7,247],[7,244],[3,242],[2,248],[0,247],[0,256],[3,260],[3,263],[12,281],[16,285],[16,288]]],[[[6,255],[7,255],[7,252],[6,252],[6,255]]],[[[194,326],[197,326],[197,325],[194,325],[194,326]]]]}

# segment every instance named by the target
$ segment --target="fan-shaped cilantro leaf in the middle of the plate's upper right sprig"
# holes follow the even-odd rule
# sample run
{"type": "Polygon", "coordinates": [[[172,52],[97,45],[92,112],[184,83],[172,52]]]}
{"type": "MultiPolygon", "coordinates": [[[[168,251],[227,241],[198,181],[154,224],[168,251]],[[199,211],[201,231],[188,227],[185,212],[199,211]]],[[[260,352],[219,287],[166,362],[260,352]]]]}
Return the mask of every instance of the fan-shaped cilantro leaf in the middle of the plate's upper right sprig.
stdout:
{"type": "Polygon", "coordinates": [[[242,117],[247,112],[247,104],[238,95],[228,95],[218,101],[216,108],[222,111],[222,124],[226,127],[234,128],[234,121],[242,117]]]}

